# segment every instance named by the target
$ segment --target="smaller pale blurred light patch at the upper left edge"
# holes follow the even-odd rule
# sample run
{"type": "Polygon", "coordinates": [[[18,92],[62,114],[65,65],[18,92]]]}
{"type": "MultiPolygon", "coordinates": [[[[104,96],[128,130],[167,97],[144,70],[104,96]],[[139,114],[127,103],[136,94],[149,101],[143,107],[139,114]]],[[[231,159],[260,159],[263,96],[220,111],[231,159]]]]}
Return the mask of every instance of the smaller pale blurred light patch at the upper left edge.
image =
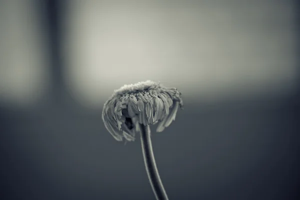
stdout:
{"type": "Polygon", "coordinates": [[[28,105],[48,84],[44,41],[33,1],[1,1],[0,101],[28,105]]]}

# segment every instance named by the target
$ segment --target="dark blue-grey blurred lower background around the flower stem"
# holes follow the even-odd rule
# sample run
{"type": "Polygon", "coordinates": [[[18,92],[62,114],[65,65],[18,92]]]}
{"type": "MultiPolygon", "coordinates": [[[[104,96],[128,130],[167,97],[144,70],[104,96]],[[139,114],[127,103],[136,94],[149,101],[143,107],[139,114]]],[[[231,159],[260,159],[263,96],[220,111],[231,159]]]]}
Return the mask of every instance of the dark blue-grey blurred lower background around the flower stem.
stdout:
{"type": "MultiPolygon", "coordinates": [[[[295,108],[293,99],[187,104],[170,127],[152,134],[169,198],[296,199],[295,108]]],[[[100,110],[1,109],[5,193],[18,199],[153,199],[139,139],[115,141],[100,116],[100,110]]]]}

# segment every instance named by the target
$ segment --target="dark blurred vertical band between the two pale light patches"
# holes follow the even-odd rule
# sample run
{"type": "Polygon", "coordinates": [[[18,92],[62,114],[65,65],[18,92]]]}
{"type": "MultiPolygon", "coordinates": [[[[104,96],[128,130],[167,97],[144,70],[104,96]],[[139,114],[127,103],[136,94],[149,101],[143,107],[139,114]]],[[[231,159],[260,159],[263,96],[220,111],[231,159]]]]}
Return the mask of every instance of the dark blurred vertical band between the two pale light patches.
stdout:
{"type": "Polygon", "coordinates": [[[50,86],[46,99],[60,103],[66,95],[64,82],[63,57],[61,52],[61,19],[65,0],[34,1],[38,22],[42,34],[45,35],[45,43],[48,48],[50,86]]]}

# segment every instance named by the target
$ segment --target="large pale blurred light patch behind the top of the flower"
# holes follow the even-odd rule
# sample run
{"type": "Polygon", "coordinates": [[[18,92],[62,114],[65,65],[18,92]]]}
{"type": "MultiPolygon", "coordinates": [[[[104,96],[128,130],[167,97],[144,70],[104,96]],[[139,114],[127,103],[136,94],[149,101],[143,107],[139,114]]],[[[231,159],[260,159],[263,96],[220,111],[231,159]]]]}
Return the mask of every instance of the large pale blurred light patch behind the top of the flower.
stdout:
{"type": "Polygon", "coordinates": [[[292,5],[237,2],[72,3],[65,21],[72,93],[98,105],[114,88],[146,79],[191,98],[292,89],[292,5]]]}

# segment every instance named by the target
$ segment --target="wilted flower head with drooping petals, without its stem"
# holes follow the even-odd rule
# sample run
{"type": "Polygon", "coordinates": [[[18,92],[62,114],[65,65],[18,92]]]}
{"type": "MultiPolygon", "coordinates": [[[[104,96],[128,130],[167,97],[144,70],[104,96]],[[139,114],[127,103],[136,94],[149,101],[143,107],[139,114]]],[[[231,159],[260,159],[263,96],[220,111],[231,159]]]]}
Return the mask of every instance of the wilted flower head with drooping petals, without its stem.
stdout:
{"type": "Polygon", "coordinates": [[[181,93],[150,80],[128,84],[114,90],[105,102],[102,119],[107,130],[118,141],[124,137],[134,140],[139,125],[157,122],[157,132],[175,120],[178,107],[182,108],[181,93]]]}

